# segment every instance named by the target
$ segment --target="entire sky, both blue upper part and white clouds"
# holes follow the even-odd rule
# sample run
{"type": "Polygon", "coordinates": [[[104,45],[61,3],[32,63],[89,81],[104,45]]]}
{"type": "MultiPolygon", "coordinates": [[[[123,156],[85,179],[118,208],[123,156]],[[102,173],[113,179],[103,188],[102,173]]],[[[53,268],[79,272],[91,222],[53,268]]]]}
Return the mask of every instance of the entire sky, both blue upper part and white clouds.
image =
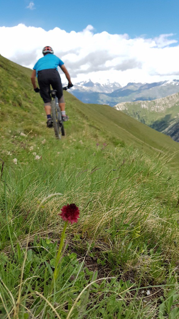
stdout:
{"type": "Polygon", "coordinates": [[[179,79],[179,0],[0,4],[0,54],[33,68],[50,45],[73,82],[179,79]]]}

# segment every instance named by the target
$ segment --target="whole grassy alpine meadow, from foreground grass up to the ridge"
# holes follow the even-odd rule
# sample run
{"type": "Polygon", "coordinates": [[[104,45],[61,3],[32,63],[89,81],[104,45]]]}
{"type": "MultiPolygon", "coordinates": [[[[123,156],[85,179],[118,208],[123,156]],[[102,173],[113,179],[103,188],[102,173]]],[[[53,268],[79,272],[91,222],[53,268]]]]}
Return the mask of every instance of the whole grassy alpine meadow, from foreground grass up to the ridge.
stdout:
{"type": "Polygon", "coordinates": [[[31,73],[0,56],[0,318],[179,318],[179,143],[68,92],[57,140],[31,73]]]}

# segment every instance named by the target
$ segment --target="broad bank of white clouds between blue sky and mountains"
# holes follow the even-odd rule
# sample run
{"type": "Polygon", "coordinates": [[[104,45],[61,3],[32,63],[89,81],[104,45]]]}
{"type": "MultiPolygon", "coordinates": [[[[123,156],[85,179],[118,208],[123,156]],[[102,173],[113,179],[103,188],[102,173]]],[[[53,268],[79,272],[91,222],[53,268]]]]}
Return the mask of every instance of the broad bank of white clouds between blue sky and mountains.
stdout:
{"type": "MultiPolygon", "coordinates": [[[[73,83],[89,78],[121,85],[179,79],[179,45],[171,39],[173,34],[130,39],[127,34],[95,34],[91,25],[81,32],[68,33],[58,27],[45,31],[24,24],[0,27],[0,33],[0,54],[29,68],[42,57],[42,48],[51,46],[65,63],[73,83]]],[[[65,76],[61,77],[65,82],[65,76]]]]}

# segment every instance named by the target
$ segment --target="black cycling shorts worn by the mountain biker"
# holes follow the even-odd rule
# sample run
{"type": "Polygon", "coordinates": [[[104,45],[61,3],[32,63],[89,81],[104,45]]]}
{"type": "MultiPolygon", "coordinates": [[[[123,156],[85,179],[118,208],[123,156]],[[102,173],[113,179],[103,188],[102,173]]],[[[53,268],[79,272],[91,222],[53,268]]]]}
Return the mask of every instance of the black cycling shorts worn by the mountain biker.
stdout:
{"type": "Polygon", "coordinates": [[[40,96],[44,103],[51,102],[50,85],[53,90],[57,90],[57,98],[60,99],[63,95],[60,74],[56,69],[47,69],[38,71],[38,83],[40,88],[40,96]]]}

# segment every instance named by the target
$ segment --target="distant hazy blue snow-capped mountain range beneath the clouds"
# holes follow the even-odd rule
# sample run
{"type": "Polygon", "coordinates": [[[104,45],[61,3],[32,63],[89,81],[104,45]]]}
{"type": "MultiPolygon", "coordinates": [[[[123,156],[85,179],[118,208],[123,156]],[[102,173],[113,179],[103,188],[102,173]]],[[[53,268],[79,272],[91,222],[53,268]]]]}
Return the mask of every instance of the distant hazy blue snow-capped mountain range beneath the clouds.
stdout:
{"type": "Polygon", "coordinates": [[[114,106],[121,102],[155,100],[179,92],[179,80],[155,83],[93,83],[91,80],[76,83],[71,93],[84,103],[108,104],[114,106]]]}

